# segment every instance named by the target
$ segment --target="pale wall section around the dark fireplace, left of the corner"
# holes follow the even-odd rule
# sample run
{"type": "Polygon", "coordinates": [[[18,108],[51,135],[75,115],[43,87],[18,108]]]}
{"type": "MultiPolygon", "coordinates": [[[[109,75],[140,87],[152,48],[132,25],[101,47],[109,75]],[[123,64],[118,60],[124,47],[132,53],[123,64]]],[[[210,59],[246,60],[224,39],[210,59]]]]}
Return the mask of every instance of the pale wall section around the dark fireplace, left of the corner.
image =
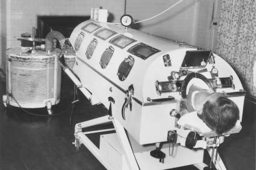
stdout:
{"type": "MultiPolygon", "coordinates": [[[[5,0],[3,0],[5,1],[5,0]]],[[[32,32],[38,15],[90,15],[91,7],[104,7],[118,22],[123,14],[124,0],[6,0],[7,48],[18,46],[16,36],[32,32]]]]}

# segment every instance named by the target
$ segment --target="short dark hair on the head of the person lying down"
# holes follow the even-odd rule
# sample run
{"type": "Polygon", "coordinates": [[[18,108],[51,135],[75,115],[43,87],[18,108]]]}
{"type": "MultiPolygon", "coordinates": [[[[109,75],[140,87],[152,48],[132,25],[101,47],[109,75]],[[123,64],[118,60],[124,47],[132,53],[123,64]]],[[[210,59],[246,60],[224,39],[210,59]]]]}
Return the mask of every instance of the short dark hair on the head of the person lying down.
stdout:
{"type": "Polygon", "coordinates": [[[239,119],[239,110],[232,100],[220,96],[214,101],[205,102],[202,116],[205,124],[220,135],[236,125],[239,119]]]}

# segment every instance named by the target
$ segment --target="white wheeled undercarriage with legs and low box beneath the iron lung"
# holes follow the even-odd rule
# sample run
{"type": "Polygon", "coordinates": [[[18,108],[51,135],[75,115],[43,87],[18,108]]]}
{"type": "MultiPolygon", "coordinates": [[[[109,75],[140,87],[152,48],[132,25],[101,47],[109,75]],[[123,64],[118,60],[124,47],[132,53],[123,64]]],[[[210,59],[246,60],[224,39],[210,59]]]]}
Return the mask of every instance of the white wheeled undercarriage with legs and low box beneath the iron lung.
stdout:
{"type": "MultiPolygon", "coordinates": [[[[216,138],[212,145],[213,147],[207,148],[210,158],[212,158],[210,166],[213,167],[212,164],[214,164],[216,169],[225,170],[225,165],[216,151],[216,138]]],[[[154,149],[154,146],[139,145],[132,137],[127,135],[118,120],[110,116],[103,116],[76,124],[75,142],[73,144],[75,144],[77,150],[83,144],[107,169],[169,169],[185,165],[194,165],[198,169],[210,169],[208,165],[203,163],[204,150],[202,148],[189,150],[183,146],[175,146],[174,155],[167,156],[164,159],[164,163],[159,163],[159,159],[150,156],[150,151],[154,149]],[[82,131],[83,128],[110,122],[114,125],[112,129],[82,131]],[[94,145],[86,136],[86,134],[113,130],[115,130],[114,134],[101,135],[100,148],[94,145]],[[118,162],[118,160],[120,161],[118,162]]],[[[164,145],[168,145],[168,143],[164,145]]],[[[164,145],[162,151],[168,155],[170,148],[164,147],[164,145]]]]}

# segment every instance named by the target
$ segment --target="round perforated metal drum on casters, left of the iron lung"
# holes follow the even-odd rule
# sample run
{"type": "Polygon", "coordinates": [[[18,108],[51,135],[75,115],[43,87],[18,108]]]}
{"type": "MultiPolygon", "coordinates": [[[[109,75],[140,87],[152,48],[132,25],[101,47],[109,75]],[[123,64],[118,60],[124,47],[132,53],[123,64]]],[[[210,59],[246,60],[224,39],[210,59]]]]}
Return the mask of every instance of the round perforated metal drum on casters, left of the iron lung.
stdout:
{"type": "Polygon", "coordinates": [[[47,53],[23,53],[10,48],[6,53],[6,103],[15,107],[42,108],[60,101],[61,68],[57,62],[59,49],[47,53]]]}

